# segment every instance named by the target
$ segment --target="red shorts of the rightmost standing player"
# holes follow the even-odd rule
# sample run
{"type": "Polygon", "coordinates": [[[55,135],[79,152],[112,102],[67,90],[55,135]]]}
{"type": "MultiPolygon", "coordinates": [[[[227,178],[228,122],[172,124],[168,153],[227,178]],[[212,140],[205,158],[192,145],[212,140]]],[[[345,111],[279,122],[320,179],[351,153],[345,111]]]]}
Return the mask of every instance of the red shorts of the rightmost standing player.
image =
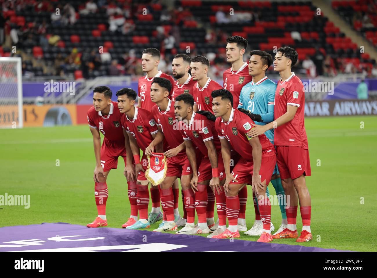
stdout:
{"type": "Polygon", "coordinates": [[[301,175],[311,175],[308,149],[296,146],[276,146],[276,152],[280,179],[296,179],[301,175]]]}

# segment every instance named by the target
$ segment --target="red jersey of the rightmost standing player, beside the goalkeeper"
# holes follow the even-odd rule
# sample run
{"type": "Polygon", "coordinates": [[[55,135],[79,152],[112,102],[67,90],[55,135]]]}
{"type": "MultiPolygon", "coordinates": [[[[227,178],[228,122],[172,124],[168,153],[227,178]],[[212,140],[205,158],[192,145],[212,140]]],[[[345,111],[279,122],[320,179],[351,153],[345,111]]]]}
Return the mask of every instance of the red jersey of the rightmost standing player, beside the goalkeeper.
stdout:
{"type": "Polygon", "coordinates": [[[298,108],[290,122],[274,130],[274,145],[308,148],[308,137],[304,125],[305,90],[301,80],[294,73],[284,82],[281,82],[281,79],[277,82],[274,120],[287,113],[287,105],[298,108]]]}

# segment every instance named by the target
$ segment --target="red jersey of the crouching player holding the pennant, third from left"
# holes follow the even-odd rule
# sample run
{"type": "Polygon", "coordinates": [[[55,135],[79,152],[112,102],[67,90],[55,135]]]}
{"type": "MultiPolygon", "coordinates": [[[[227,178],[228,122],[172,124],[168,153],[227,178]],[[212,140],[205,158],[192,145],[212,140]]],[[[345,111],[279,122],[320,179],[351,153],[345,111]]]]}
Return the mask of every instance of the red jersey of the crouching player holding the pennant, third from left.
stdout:
{"type": "MultiPolygon", "coordinates": [[[[179,132],[180,123],[174,116],[174,104],[169,99],[166,111],[161,111],[156,105],[152,108],[151,117],[157,119],[157,125],[161,127],[162,133],[164,133],[165,140],[169,144],[170,148],[176,148],[182,144],[182,135],[179,132]]],[[[166,145],[166,144],[165,144],[166,145]]],[[[181,151],[180,154],[184,154],[185,151],[181,151]]]]}

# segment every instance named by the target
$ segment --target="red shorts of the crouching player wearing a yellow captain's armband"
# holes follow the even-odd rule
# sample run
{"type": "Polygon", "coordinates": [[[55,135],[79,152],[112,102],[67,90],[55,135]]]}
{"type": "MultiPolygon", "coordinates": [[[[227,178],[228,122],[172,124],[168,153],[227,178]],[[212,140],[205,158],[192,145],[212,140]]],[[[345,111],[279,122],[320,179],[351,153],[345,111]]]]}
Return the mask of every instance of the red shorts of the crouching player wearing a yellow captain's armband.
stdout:
{"type": "MultiPolygon", "coordinates": [[[[270,183],[275,165],[276,153],[273,153],[273,155],[269,155],[267,157],[262,157],[259,176],[261,176],[262,182],[266,180],[266,185],[270,183]]],[[[246,161],[244,158],[241,158],[236,164],[236,166],[234,166],[232,172],[232,175],[237,180],[237,182],[232,181],[231,184],[251,184],[253,168],[253,161],[246,161]]]]}

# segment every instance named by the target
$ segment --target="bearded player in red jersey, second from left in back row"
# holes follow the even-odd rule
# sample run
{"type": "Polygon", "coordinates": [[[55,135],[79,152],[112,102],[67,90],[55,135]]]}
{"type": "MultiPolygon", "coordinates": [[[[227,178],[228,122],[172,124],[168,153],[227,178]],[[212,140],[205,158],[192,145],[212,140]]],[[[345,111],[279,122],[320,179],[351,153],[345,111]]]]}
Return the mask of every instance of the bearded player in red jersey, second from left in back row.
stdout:
{"type": "Polygon", "coordinates": [[[188,93],[192,95],[192,87],[195,83],[189,74],[191,58],[186,54],[177,54],[172,62],[173,76],[177,81],[173,85],[172,100],[180,94],[188,93]]]}

